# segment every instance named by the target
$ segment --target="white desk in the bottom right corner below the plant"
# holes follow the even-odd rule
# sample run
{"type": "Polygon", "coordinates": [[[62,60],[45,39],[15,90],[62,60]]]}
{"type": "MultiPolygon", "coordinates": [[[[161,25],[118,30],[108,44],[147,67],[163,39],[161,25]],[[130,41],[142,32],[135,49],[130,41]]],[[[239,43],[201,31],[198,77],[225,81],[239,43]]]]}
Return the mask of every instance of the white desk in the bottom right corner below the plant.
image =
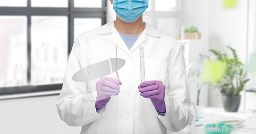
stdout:
{"type": "Polygon", "coordinates": [[[225,112],[223,109],[220,108],[204,108],[204,118],[199,119],[200,123],[203,123],[203,126],[197,126],[197,127],[192,127],[192,126],[187,126],[183,130],[179,132],[168,132],[170,133],[178,133],[178,134],[196,134],[196,133],[205,133],[203,130],[204,126],[207,124],[218,124],[220,119],[223,118],[234,118],[234,119],[239,119],[239,120],[245,120],[243,123],[243,127],[236,128],[237,130],[240,130],[240,132],[231,132],[230,134],[237,134],[237,133],[246,133],[246,134],[256,134],[256,113],[243,113],[243,112],[238,112],[238,113],[230,113],[230,112],[225,112]],[[249,130],[251,129],[251,130],[249,130]],[[243,131],[245,130],[245,131],[243,131]],[[249,130],[249,131],[246,131],[249,130]]]}

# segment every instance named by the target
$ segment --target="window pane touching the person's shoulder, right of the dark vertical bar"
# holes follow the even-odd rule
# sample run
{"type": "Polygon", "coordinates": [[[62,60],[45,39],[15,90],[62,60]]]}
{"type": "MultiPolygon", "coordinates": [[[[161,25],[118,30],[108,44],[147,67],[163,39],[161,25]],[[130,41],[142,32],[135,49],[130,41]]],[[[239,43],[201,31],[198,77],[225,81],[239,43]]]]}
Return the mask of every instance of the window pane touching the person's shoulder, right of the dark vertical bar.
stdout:
{"type": "Polygon", "coordinates": [[[75,18],[75,34],[74,39],[83,32],[99,28],[101,26],[100,18],[75,18]]]}

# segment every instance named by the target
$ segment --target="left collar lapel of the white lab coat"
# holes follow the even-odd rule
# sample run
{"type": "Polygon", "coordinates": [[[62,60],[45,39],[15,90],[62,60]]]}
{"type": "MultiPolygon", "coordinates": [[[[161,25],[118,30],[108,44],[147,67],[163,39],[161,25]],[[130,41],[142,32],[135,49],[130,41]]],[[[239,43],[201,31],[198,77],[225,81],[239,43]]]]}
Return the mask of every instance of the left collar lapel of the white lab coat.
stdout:
{"type": "Polygon", "coordinates": [[[115,29],[113,29],[113,33],[110,37],[110,41],[113,42],[115,45],[117,44],[117,46],[119,48],[121,48],[123,51],[125,51],[128,55],[131,56],[131,52],[129,51],[129,49],[127,48],[127,46],[125,45],[122,37],[120,36],[120,34],[118,33],[118,31],[115,29]]]}

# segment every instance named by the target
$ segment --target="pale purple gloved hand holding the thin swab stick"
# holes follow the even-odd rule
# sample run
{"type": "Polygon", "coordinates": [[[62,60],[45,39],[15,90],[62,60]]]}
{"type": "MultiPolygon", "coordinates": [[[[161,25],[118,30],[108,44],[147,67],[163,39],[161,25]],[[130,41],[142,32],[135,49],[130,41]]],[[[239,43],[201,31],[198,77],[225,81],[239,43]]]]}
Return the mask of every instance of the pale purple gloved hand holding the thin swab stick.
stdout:
{"type": "Polygon", "coordinates": [[[95,102],[95,108],[100,110],[106,103],[109,102],[112,95],[118,95],[120,93],[121,81],[116,78],[101,77],[96,83],[97,97],[95,102]]]}

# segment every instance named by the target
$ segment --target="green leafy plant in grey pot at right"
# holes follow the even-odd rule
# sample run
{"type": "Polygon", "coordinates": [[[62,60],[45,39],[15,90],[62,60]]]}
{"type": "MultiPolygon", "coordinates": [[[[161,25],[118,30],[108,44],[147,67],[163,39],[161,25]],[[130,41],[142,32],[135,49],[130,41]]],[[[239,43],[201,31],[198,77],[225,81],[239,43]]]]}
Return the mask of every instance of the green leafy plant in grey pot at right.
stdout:
{"type": "Polygon", "coordinates": [[[217,60],[224,63],[224,71],[221,81],[214,83],[215,88],[218,88],[222,93],[222,102],[225,111],[237,112],[240,106],[240,92],[244,90],[244,85],[250,80],[245,79],[243,64],[239,61],[236,50],[227,46],[232,51],[233,57],[228,58],[225,53],[210,49],[217,57],[217,60]]]}

